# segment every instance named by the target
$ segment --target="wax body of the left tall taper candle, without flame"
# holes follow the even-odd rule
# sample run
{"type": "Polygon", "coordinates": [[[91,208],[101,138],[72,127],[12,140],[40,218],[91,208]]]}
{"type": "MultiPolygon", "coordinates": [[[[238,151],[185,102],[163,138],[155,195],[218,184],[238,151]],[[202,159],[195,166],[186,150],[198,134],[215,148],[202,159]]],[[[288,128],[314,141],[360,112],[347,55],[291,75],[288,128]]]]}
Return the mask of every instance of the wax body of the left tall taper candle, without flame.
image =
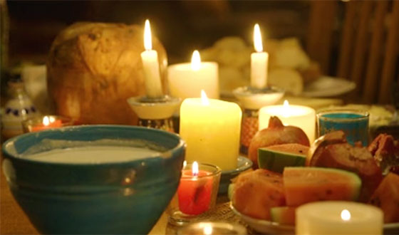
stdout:
{"type": "Polygon", "coordinates": [[[141,53],[141,61],[145,76],[145,91],[147,93],[147,97],[161,97],[163,94],[160,78],[160,64],[158,63],[157,51],[143,51],[141,53]]]}

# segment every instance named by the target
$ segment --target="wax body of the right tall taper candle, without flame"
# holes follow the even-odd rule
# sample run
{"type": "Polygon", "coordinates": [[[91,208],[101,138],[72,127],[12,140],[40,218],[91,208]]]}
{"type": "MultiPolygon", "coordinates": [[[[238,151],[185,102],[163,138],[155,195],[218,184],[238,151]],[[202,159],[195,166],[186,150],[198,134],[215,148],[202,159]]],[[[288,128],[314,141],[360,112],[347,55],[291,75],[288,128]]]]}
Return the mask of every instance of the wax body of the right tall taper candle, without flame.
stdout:
{"type": "Polygon", "coordinates": [[[265,88],[267,85],[267,65],[269,53],[254,52],[251,54],[251,86],[265,88]]]}

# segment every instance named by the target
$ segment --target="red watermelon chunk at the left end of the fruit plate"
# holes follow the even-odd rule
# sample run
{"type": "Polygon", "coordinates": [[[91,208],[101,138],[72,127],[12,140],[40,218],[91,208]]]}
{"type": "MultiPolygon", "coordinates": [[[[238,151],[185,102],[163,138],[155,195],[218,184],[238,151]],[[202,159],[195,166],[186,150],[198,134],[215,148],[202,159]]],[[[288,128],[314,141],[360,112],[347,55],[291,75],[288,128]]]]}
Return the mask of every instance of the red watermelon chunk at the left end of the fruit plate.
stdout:
{"type": "Polygon", "coordinates": [[[281,174],[266,169],[240,174],[234,184],[232,202],[242,214],[270,220],[270,208],[285,205],[281,174]]]}

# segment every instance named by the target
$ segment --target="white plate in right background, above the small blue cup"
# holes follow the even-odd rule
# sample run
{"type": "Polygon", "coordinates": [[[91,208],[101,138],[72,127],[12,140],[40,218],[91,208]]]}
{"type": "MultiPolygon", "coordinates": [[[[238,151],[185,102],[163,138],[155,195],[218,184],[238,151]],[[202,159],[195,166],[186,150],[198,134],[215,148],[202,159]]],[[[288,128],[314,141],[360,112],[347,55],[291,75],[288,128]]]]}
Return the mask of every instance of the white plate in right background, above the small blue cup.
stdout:
{"type": "Polygon", "coordinates": [[[343,95],[356,88],[356,83],[343,78],[322,76],[307,84],[303,96],[306,97],[333,97],[343,95]]]}

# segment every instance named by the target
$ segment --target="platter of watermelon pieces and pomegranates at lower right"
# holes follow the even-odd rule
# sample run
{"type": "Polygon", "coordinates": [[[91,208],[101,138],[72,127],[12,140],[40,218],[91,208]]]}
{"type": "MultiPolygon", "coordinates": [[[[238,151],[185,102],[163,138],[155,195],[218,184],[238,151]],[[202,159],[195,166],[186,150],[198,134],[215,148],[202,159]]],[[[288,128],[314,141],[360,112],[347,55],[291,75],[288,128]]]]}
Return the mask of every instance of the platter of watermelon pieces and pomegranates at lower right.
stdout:
{"type": "Polygon", "coordinates": [[[378,207],[384,234],[398,234],[398,140],[380,134],[366,147],[350,145],[339,130],[313,143],[304,138],[298,127],[279,127],[278,117],[271,118],[249,147],[259,168],[229,185],[232,211],[259,233],[293,234],[299,207],[356,202],[378,207]]]}

